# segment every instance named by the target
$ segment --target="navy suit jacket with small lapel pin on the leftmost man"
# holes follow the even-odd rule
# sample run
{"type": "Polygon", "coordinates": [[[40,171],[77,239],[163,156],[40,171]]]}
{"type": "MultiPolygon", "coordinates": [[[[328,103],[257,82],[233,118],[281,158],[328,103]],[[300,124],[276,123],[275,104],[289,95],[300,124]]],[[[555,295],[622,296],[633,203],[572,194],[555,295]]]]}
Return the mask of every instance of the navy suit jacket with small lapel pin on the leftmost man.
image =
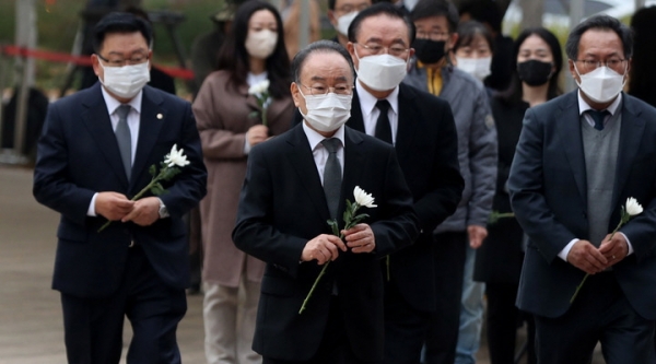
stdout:
{"type": "MultiPolygon", "coordinates": [[[[131,242],[142,246],[162,280],[175,289],[188,284],[186,228],[181,216],[206,193],[207,172],[191,106],[165,92],[145,86],[139,141],[128,180],[112,129],[101,84],[50,105],[38,142],[34,196],[61,214],[52,287],[81,297],[112,294],[124,275],[131,242]],[[191,162],[161,196],[171,218],[150,226],[106,222],[86,215],[92,197],[116,191],[131,198],[151,180],[173,144],[191,162]]],[[[149,196],[149,195],[147,195],[149,196]]]]}

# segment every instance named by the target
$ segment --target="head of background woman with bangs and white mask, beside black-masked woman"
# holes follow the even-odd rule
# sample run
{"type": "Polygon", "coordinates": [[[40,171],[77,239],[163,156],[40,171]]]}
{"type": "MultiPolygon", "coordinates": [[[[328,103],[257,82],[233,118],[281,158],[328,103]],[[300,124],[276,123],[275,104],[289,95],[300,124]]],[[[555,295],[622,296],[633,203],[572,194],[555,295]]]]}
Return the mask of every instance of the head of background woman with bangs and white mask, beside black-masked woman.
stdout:
{"type": "MultiPolygon", "coordinates": [[[[450,52],[452,62],[459,70],[469,73],[475,79],[483,82],[491,73],[494,39],[490,31],[477,21],[460,22],[458,25],[458,39],[450,52]]],[[[492,96],[492,89],[485,87],[488,96],[492,96]]]]}

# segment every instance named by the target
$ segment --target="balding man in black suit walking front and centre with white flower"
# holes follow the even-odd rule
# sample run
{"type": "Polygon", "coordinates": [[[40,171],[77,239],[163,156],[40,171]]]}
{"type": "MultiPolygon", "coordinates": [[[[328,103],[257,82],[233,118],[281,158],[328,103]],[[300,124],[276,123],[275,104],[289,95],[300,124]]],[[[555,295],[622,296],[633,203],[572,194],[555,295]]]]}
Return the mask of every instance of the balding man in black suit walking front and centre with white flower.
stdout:
{"type": "Polygon", "coordinates": [[[418,236],[412,196],[394,148],[343,126],[353,93],[343,47],[314,43],[292,68],[305,121],[250,151],[233,231],[239,249],[267,262],[253,349],[265,364],[382,363],[379,261],[418,236]],[[356,186],[377,207],[342,230],[344,243],[327,221],[342,216],[356,186]]]}

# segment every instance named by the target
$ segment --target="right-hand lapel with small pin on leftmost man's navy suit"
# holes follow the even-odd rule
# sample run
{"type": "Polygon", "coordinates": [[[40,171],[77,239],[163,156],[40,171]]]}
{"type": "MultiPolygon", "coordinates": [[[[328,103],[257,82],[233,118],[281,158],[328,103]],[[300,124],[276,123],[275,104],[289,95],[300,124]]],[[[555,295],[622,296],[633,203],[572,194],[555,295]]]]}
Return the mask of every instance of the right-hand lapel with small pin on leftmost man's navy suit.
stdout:
{"type": "MultiPolygon", "coordinates": [[[[160,95],[149,90],[148,86],[144,87],[139,121],[139,141],[137,142],[134,162],[132,163],[130,190],[134,188],[134,184],[141,178],[141,175],[148,173],[150,166],[145,164],[157,141],[160,129],[166,122],[167,117],[167,110],[163,107],[160,95]]],[[[155,160],[164,161],[164,155],[155,156],[155,160]]]]}

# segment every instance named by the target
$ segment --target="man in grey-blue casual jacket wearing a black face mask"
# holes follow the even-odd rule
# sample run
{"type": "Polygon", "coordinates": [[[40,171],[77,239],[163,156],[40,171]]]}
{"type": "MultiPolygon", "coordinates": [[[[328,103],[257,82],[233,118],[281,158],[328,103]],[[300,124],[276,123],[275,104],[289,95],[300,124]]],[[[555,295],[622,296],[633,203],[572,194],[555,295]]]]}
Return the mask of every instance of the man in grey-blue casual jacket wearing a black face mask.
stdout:
{"type": "MultiPolygon", "coordinates": [[[[458,39],[458,11],[447,0],[421,0],[410,13],[414,23],[415,59],[406,84],[427,91],[449,103],[458,134],[458,161],[465,190],[456,212],[434,232],[435,292],[437,309],[431,318],[425,340],[426,363],[473,363],[480,338],[480,324],[466,317],[460,334],[465,267],[466,306],[480,304],[482,287],[471,284],[475,249],[488,235],[485,228],[496,176],[496,130],[482,83],[449,64],[448,52],[458,39]],[[471,292],[471,291],[479,292],[471,292]],[[477,298],[478,297],[478,298],[477,298]],[[456,360],[456,344],[460,355],[456,360]]],[[[465,313],[465,316],[466,313],[465,313]]]]}

